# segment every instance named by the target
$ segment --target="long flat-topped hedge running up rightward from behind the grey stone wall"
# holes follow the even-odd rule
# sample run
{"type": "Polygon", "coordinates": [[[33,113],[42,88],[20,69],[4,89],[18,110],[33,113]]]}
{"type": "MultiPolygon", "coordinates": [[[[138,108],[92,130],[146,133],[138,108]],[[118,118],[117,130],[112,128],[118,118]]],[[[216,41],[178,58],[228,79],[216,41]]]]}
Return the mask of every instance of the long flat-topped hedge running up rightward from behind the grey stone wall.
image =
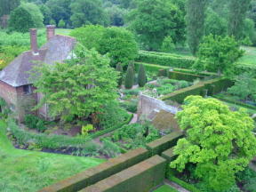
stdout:
{"type": "Polygon", "coordinates": [[[225,78],[216,78],[209,81],[205,81],[184,89],[180,89],[177,92],[172,92],[160,98],[160,100],[172,100],[180,104],[183,103],[186,97],[189,95],[201,95],[208,96],[227,90],[228,87],[232,86],[234,82],[225,78]]]}

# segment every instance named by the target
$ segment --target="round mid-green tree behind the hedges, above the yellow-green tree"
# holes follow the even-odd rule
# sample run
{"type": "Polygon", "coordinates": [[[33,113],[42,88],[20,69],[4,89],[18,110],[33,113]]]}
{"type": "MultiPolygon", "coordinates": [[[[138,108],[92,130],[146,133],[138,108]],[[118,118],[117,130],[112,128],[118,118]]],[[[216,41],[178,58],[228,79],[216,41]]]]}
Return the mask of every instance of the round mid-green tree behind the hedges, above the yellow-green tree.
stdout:
{"type": "Polygon", "coordinates": [[[208,71],[218,71],[219,76],[231,76],[236,61],[243,56],[234,37],[205,36],[200,44],[198,61],[194,68],[208,71]]]}

